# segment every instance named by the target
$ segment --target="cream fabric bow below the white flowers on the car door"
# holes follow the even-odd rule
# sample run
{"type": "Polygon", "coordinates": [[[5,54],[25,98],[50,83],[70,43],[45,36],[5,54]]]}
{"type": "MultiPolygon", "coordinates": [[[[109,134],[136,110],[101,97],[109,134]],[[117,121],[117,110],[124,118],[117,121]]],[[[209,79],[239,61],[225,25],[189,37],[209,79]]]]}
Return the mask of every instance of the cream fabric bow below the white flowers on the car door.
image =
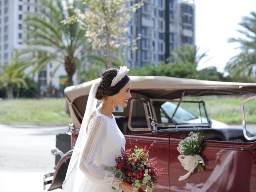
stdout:
{"type": "Polygon", "coordinates": [[[181,165],[187,170],[187,174],[180,176],[178,181],[182,181],[190,176],[190,174],[197,167],[198,163],[202,163],[204,166],[204,160],[200,155],[179,155],[178,160],[180,160],[181,165]]]}

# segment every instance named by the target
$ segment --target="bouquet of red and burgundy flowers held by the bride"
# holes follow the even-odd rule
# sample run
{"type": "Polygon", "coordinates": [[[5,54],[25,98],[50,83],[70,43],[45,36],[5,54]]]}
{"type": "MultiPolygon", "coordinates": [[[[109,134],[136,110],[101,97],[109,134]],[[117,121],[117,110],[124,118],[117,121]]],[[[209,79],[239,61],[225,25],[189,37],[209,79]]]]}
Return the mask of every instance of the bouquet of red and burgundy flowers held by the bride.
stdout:
{"type": "Polygon", "coordinates": [[[137,192],[141,185],[146,186],[146,192],[152,192],[154,183],[163,175],[163,168],[157,168],[155,158],[149,159],[149,152],[144,148],[121,148],[121,156],[116,156],[116,166],[106,166],[116,177],[132,184],[132,192],[137,192]]]}

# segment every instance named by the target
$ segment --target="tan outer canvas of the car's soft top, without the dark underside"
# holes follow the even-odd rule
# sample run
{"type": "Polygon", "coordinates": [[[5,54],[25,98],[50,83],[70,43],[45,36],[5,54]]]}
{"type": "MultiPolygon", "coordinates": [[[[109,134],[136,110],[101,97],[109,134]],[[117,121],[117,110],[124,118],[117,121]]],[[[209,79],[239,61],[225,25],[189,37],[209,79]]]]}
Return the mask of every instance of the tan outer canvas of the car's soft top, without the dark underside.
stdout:
{"type": "MultiPolygon", "coordinates": [[[[131,90],[159,89],[159,90],[197,90],[197,89],[239,89],[239,87],[255,87],[253,83],[205,81],[165,76],[129,76],[131,90]]],[[[95,80],[74,85],[65,89],[66,97],[70,102],[76,98],[88,95],[95,80]]]]}

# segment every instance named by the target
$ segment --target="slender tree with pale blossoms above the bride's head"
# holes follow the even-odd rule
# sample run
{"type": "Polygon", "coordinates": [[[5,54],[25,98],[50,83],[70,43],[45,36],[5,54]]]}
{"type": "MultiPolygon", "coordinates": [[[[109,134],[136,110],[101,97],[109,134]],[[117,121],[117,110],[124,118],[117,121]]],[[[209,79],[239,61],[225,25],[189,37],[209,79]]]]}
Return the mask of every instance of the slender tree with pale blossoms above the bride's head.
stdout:
{"type": "Polygon", "coordinates": [[[136,10],[143,6],[143,2],[140,1],[134,4],[135,0],[82,1],[86,4],[85,12],[73,6],[68,6],[69,9],[74,10],[75,15],[63,22],[79,22],[82,29],[86,31],[85,36],[94,49],[106,48],[108,68],[110,68],[110,49],[118,48],[121,44],[131,43],[127,41],[123,34],[128,32],[128,23],[136,10]]]}

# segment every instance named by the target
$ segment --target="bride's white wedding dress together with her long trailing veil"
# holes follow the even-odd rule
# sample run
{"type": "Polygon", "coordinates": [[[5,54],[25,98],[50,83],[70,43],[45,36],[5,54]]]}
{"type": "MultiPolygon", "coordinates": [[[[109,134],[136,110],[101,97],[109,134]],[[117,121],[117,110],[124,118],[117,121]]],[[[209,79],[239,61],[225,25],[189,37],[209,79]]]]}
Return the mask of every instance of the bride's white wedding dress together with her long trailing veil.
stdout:
{"type": "Polygon", "coordinates": [[[104,170],[104,166],[116,165],[115,157],[121,155],[121,147],[125,149],[125,138],[114,116],[110,118],[96,108],[98,84],[99,79],[90,89],[63,192],[121,192],[118,188],[122,180],[104,170]]]}

